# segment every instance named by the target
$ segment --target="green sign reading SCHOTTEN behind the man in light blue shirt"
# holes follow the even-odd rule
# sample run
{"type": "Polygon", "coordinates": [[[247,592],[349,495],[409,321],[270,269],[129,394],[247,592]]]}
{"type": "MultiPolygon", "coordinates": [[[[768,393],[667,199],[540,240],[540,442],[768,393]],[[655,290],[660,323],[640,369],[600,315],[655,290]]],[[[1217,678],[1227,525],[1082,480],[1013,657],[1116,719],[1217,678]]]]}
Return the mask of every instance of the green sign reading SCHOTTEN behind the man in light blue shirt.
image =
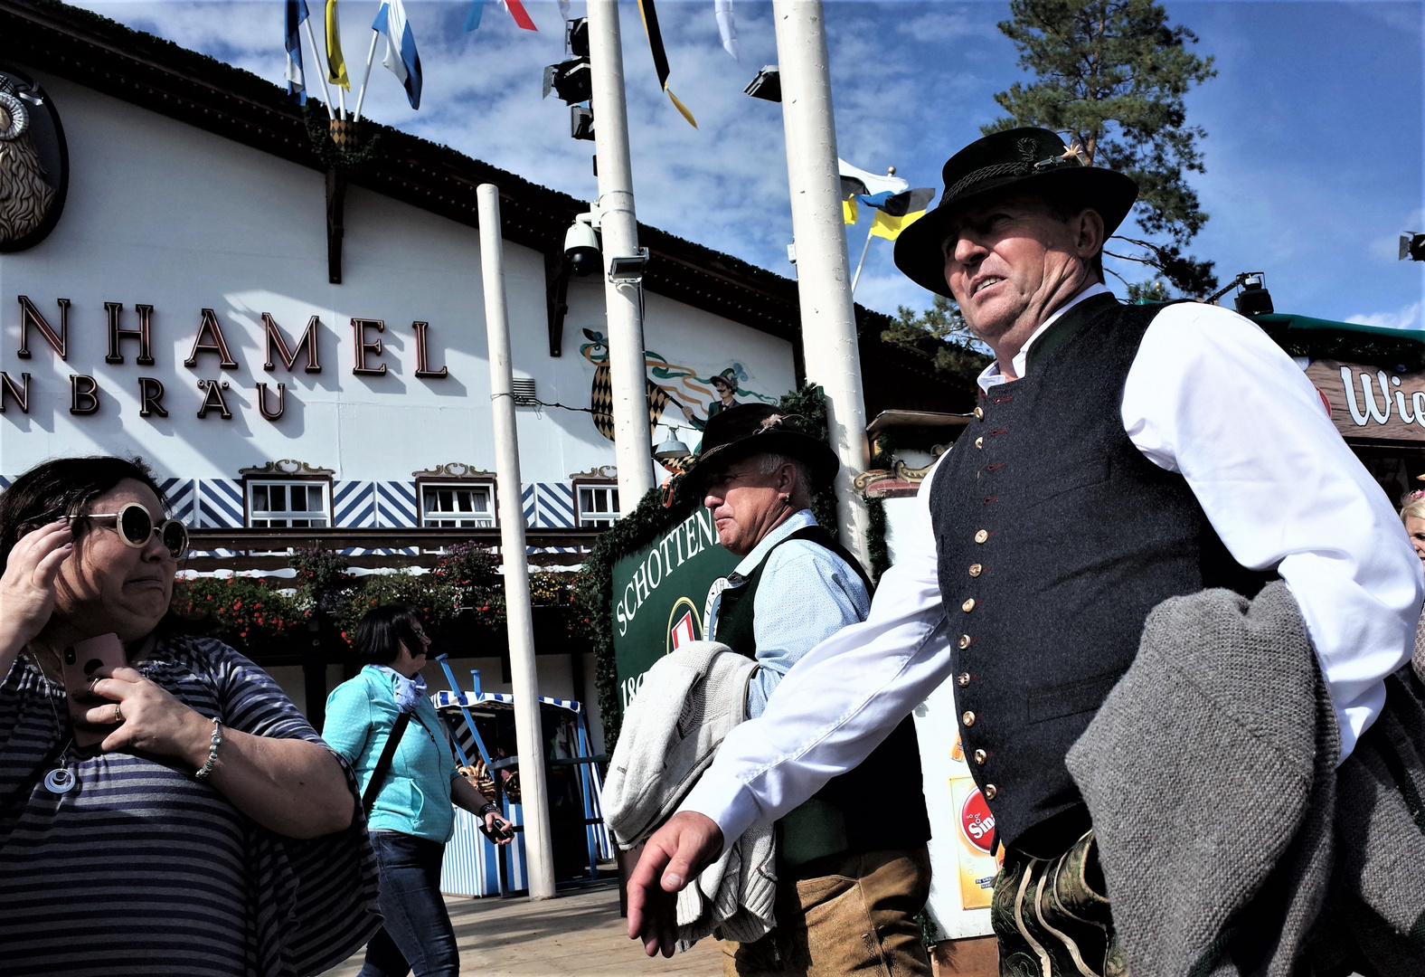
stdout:
{"type": "Polygon", "coordinates": [[[624,709],[654,662],[685,642],[703,640],[708,589],[737,563],[718,543],[712,513],[701,505],[614,563],[614,662],[624,709]]]}

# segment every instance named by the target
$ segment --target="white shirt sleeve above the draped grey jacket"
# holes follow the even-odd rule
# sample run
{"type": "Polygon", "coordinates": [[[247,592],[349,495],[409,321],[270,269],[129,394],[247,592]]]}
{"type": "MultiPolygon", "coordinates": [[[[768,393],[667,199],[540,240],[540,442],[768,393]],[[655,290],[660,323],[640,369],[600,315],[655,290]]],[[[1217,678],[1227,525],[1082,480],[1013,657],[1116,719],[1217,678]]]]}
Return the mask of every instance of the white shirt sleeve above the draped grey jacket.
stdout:
{"type": "Polygon", "coordinates": [[[1341,759],[1409,660],[1422,575],[1391,501],[1301,368],[1257,325],[1171,305],[1129,371],[1123,425],[1180,472],[1227,551],[1275,569],[1301,608],[1341,726],[1341,759]]]}

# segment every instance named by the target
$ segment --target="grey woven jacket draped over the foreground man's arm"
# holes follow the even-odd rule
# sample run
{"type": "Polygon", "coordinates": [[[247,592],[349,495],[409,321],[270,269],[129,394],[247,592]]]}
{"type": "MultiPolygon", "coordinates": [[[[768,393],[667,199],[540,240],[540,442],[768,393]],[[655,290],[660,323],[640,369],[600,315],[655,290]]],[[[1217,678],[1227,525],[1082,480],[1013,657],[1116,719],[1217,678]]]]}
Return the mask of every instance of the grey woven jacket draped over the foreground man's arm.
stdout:
{"type": "Polygon", "coordinates": [[[1338,769],[1284,583],[1153,610],[1067,757],[1129,973],[1425,974],[1425,702],[1409,666],[1387,693],[1338,769]]]}

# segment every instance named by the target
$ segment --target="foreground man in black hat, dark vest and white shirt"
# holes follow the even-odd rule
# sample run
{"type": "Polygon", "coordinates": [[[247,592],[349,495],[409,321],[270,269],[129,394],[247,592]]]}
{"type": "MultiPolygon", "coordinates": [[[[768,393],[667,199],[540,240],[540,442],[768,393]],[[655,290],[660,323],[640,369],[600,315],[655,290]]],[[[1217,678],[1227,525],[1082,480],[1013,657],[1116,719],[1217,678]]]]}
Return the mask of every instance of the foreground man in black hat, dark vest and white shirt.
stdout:
{"type": "Polygon", "coordinates": [[[866,622],[802,659],[648,842],[628,920],[650,951],[665,938],[664,893],[724,837],[855,766],[953,677],[1006,853],[992,913],[1002,973],[1119,973],[1064,755],[1133,662],[1149,612],[1280,576],[1342,759],[1409,660],[1419,568],[1302,371],[1235,312],[1123,305],[1104,287],[1104,240],[1134,183],[1039,128],[986,135],[943,177],[895,257],[993,349],[975,416],[922,485],[921,529],[866,622]]]}

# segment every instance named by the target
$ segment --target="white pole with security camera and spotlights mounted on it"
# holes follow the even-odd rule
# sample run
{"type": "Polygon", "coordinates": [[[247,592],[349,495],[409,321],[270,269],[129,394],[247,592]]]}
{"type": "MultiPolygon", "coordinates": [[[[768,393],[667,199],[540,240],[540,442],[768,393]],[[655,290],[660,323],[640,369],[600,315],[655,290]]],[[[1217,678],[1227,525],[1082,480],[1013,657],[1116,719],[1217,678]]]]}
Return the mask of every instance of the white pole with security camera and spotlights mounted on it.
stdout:
{"type": "Polygon", "coordinates": [[[643,352],[643,282],[608,281],[608,260],[638,252],[624,104],[623,44],[617,0],[589,0],[589,61],[593,74],[594,151],[598,160],[598,222],[604,247],[604,314],[608,379],[614,398],[614,451],[620,508],[631,512],[653,488],[648,374],[643,352]]]}

